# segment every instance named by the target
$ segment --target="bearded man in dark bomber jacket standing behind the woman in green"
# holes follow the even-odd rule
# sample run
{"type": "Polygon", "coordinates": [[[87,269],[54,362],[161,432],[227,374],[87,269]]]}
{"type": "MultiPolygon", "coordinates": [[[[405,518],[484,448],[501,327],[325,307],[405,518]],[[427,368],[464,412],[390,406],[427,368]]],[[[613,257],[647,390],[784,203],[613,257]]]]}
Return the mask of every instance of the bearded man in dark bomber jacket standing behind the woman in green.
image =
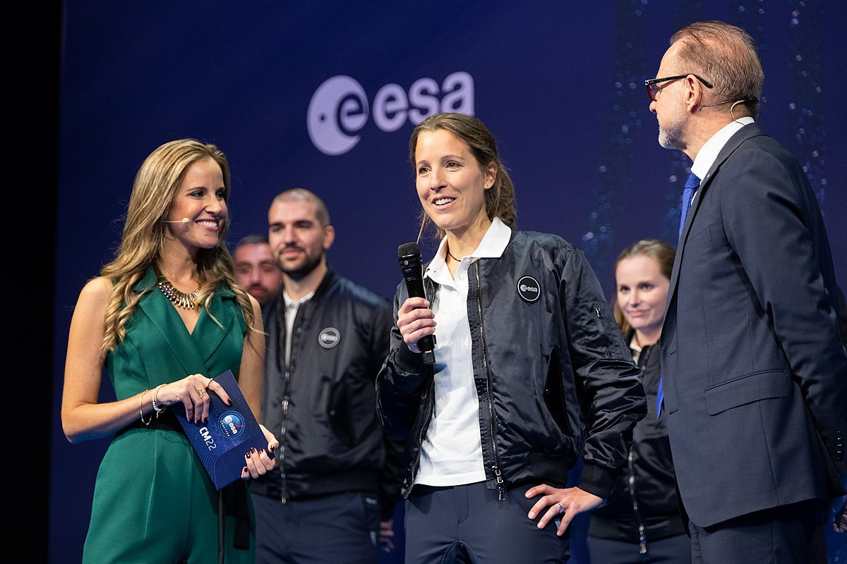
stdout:
{"type": "Polygon", "coordinates": [[[276,196],[268,226],[283,287],[263,315],[262,414],[280,446],[274,471],[251,484],[257,562],[375,564],[402,479],[374,390],[390,304],[329,267],[335,229],[317,195],[276,196]]]}

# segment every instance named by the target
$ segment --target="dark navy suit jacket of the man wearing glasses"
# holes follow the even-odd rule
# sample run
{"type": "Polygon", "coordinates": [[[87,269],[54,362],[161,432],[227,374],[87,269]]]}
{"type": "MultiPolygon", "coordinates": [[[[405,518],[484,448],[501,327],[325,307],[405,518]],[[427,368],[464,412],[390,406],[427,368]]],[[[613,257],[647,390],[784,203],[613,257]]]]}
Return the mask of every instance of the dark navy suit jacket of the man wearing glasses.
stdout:
{"type": "Polygon", "coordinates": [[[800,163],[751,123],[700,183],[662,329],[679,491],[702,527],[847,474],[847,353],[832,256],[800,163]]]}

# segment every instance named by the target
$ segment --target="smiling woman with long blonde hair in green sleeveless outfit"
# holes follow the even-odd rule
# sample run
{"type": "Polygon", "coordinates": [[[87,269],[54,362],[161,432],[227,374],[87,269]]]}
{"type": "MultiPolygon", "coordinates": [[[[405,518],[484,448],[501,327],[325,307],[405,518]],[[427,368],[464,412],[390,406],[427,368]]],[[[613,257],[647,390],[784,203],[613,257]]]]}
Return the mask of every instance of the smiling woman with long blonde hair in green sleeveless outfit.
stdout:
{"type": "MultiPolygon", "coordinates": [[[[235,284],[224,244],[229,196],[217,147],[160,146],[136,175],[116,258],[80,293],[64,433],[73,443],[116,433],[97,473],[83,561],[254,560],[243,482],[219,496],[172,412],[206,423],[210,393],[230,401],[212,377],[232,370],[260,416],[262,317],[235,284]],[[115,402],[97,401],[104,366],[115,402]]],[[[274,467],[267,451],[246,453],[241,478],[274,467]]]]}

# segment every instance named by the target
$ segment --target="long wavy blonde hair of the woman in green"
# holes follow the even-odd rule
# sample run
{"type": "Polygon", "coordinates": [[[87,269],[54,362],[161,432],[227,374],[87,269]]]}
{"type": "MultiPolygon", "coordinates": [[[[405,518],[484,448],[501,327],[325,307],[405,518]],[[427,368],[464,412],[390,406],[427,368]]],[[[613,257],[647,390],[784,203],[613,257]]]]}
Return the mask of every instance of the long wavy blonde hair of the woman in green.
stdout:
{"type": "MultiPolygon", "coordinates": [[[[158,262],[163,249],[165,220],[185,173],[192,164],[205,159],[218,163],[224,175],[224,201],[229,201],[230,164],[215,145],[193,139],[170,141],[150,153],[138,169],[118,252],[115,259],[100,271],[113,284],[106,307],[101,353],[108,353],[125,339],[126,324],[135,314],[138,300],[150,291],[148,288],[136,293],[133,287],[144,277],[147,269],[158,262]]],[[[197,278],[200,282],[197,302],[208,311],[215,288],[223,284],[235,293],[247,326],[252,328],[254,319],[250,298],[235,283],[232,256],[224,243],[228,228],[229,222],[224,219],[220,225],[218,244],[213,249],[200,249],[197,255],[197,278]]]]}

